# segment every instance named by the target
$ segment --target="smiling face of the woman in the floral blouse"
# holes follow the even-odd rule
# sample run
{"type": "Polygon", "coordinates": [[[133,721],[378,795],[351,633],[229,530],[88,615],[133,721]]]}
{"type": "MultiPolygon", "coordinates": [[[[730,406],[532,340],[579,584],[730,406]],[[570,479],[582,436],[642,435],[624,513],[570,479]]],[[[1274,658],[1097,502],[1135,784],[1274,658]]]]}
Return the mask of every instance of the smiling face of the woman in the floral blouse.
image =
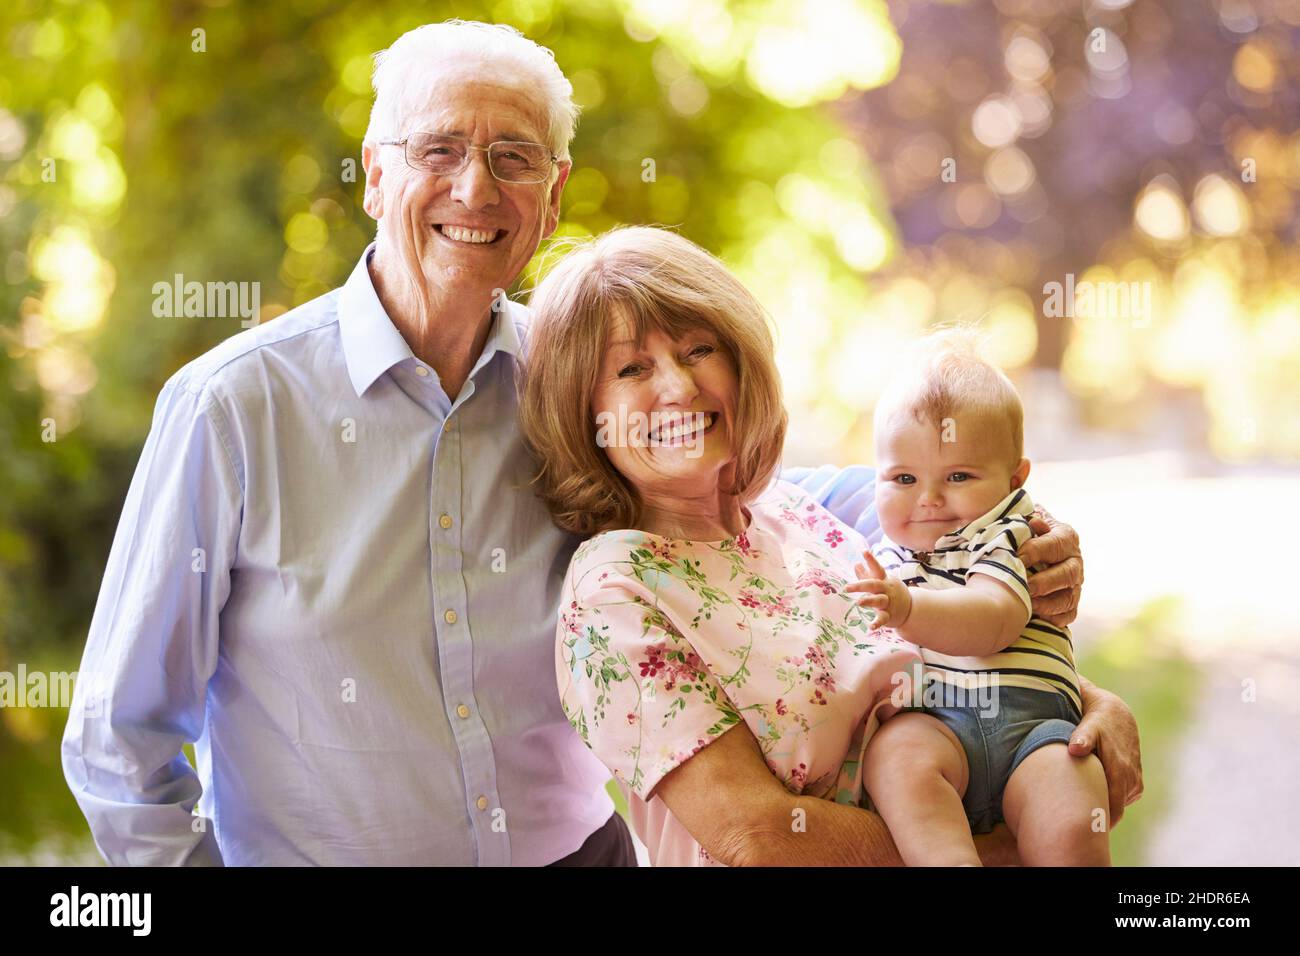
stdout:
{"type": "Polygon", "coordinates": [[[710,329],[637,342],[616,316],[592,394],[597,444],[642,501],[714,494],[733,460],[736,395],[734,362],[710,329]]]}

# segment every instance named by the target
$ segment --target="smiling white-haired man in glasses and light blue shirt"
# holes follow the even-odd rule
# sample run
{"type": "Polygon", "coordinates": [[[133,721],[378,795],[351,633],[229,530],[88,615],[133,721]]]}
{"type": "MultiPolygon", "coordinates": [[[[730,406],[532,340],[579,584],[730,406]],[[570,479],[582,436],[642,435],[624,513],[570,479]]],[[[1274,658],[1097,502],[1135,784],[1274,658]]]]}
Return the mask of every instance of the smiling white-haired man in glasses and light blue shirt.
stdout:
{"type": "MultiPolygon", "coordinates": [[[[554,685],[576,541],[526,486],[528,315],[503,293],[558,222],[571,86],[517,31],[452,21],[374,87],[378,234],[351,277],[162,389],[65,774],[114,864],[634,865],[554,685]]],[[[870,471],[796,477],[874,527],[870,471]]],[[[1037,544],[1041,610],[1069,619],[1072,532],[1037,544]]],[[[1093,691],[1079,732],[1122,808],[1131,717],[1093,691]]],[[[864,862],[896,860],[879,845],[864,862]]]]}

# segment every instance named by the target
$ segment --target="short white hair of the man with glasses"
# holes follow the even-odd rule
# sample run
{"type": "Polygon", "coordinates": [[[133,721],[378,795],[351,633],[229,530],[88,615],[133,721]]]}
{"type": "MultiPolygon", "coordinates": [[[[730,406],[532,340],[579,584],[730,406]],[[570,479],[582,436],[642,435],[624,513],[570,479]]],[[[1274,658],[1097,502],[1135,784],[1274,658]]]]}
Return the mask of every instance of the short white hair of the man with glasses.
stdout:
{"type": "Polygon", "coordinates": [[[546,111],[546,146],[560,160],[569,157],[578,108],[555,53],[512,26],[465,20],[417,26],[374,55],[374,105],[365,143],[400,135],[402,121],[432,98],[437,68],[458,59],[478,61],[536,90],[546,111]]]}

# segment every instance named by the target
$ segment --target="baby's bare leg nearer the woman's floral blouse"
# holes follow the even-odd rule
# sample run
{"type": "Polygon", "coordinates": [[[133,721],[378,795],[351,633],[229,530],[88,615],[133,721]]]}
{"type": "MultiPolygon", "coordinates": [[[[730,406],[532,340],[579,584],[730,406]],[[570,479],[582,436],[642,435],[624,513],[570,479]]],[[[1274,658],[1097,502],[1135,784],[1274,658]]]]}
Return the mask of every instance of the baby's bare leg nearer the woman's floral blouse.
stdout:
{"type": "Polygon", "coordinates": [[[966,752],[928,714],[897,714],[867,747],[862,783],[909,866],[979,866],[962,795],[966,752]]]}

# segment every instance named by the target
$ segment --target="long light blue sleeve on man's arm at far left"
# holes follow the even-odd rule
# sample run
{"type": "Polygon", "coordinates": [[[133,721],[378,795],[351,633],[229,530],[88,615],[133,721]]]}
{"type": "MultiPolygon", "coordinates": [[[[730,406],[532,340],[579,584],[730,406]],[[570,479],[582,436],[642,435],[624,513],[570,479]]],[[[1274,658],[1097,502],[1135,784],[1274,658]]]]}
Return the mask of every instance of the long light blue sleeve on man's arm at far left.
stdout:
{"type": "Polygon", "coordinates": [[[64,775],[112,865],[221,865],[182,745],[203,732],[242,485],[220,406],[179,377],[113,538],[62,739],[64,775]]]}

